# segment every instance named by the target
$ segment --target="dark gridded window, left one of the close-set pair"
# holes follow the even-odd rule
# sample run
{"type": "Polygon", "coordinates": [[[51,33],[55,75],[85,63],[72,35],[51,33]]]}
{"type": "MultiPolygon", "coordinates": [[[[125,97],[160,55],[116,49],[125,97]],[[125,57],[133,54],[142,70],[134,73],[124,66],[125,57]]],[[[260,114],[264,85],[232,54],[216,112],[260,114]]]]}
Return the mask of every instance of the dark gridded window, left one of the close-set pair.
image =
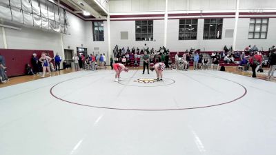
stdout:
{"type": "Polygon", "coordinates": [[[197,19],[179,20],[179,40],[197,40],[197,19]]]}

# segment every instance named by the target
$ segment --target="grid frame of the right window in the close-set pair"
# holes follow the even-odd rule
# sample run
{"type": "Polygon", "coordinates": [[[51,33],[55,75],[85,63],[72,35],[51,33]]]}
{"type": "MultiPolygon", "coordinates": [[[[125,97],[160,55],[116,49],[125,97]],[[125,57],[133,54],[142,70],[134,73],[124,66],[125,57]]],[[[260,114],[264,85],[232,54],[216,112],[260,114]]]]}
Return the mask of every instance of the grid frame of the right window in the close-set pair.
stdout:
{"type": "Polygon", "coordinates": [[[224,30],[224,19],[223,18],[206,18],[204,19],[204,30],[203,30],[203,40],[219,40],[222,39],[222,31],[224,30]],[[218,20],[221,19],[221,23],[217,22],[218,20]],[[209,22],[206,22],[208,21],[209,22]],[[215,23],[212,23],[215,20],[215,23]],[[217,38],[217,25],[221,24],[221,32],[219,32],[220,37],[217,38]],[[208,31],[206,31],[206,25],[208,25],[208,31]],[[215,25],[215,31],[210,31],[210,25],[215,25]],[[208,33],[208,39],[205,37],[205,34],[208,33]],[[214,38],[212,36],[210,36],[210,34],[215,34],[214,38]]]}

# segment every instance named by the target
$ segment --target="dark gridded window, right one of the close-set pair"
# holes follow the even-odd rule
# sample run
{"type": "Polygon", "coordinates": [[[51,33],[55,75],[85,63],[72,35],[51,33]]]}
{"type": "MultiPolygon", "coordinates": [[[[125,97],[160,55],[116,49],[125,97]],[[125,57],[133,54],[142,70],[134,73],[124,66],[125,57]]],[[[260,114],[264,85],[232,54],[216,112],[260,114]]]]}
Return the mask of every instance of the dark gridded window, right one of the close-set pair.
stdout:
{"type": "Polygon", "coordinates": [[[223,19],[204,19],[203,39],[221,39],[223,19]]]}

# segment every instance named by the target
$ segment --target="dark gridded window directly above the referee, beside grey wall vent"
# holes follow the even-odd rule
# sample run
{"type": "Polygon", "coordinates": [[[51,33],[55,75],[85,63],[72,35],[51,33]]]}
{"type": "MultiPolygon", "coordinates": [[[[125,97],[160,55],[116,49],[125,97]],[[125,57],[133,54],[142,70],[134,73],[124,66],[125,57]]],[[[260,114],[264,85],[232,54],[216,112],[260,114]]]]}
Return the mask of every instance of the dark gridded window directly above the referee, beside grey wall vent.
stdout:
{"type": "Polygon", "coordinates": [[[135,21],[136,41],[153,40],[153,21],[135,21]]]}

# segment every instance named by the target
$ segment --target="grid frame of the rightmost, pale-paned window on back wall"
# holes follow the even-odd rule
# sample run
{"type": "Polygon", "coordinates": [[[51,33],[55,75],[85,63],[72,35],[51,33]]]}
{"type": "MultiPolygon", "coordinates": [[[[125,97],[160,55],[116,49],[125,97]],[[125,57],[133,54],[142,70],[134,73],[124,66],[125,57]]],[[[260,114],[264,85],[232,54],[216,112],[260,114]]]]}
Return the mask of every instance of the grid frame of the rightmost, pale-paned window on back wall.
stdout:
{"type": "Polygon", "coordinates": [[[249,19],[249,30],[248,30],[248,39],[267,39],[268,36],[268,24],[269,24],[269,18],[250,18],[249,19]],[[254,23],[251,23],[251,19],[254,19],[254,23]],[[261,23],[257,23],[257,19],[261,19],[261,23]],[[263,23],[263,19],[267,20],[267,23],[263,23]],[[260,30],[259,32],[255,31],[256,25],[260,24],[260,30]],[[250,25],[254,25],[253,31],[250,31],[250,25]],[[262,27],[263,25],[266,25],[266,37],[265,38],[261,38],[262,36],[262,27]],[[249,38],[249,34],[253,33],[253,38],[249,38]],[[259,33],[259,38],[255,38],[255,34],[259,33]]]}

